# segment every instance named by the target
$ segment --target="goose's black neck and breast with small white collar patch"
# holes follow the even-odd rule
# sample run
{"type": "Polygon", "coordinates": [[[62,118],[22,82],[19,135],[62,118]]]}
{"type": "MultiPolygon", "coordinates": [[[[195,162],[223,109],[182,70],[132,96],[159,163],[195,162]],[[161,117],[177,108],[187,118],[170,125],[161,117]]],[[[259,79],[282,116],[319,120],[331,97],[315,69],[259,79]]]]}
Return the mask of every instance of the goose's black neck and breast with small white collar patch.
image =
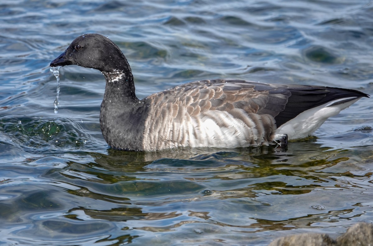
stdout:
{"type": "Polygon", "coordinates": [[[106,142],[115,149],[142,150],[148,107],[135,95],[132,73],[103,72],[106,87],[100,125],[106,142]]]}

